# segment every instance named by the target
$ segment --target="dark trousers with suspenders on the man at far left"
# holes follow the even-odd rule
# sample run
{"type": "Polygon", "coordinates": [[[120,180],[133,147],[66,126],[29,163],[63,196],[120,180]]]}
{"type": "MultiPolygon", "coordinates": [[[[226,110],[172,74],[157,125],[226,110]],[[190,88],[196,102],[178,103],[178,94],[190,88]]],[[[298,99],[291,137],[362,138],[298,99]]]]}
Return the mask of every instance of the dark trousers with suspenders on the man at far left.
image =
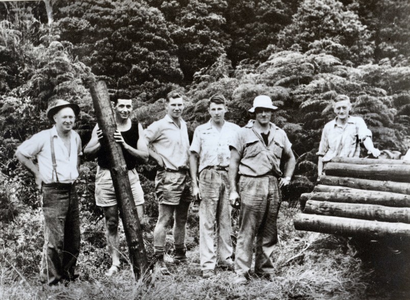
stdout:
{"type": "Polygon", "coordinates": [[[79,199],[75,185],[42,187],[44,246],[40,281],[56,284],[74,276],[80,253],[79,199]]]}

